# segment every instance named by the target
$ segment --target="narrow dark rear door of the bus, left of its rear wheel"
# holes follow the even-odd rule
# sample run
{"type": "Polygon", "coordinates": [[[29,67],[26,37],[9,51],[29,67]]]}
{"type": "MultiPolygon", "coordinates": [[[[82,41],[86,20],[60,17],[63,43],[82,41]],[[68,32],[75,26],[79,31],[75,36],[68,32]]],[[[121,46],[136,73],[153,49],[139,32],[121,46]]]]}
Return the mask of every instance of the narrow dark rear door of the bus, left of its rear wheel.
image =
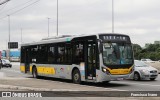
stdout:
{"type": "Polygon", "coordinates": [[[29,49],[27,48],[26,50],[25,50],[25,73],[27,73],[29,70],[30,70],[30,60],[29,60],[29,54],[30,53],[30,51],[29,51],[29,49]]]}

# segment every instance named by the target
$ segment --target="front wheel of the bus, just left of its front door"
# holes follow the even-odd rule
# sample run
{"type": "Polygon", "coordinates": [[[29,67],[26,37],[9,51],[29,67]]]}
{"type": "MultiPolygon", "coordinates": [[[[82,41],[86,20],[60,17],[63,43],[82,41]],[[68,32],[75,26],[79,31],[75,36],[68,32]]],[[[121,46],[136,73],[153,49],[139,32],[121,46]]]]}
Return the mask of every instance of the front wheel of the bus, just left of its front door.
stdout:
{"type": "Polygon", "coordinates": [[[80,72],[79,72],[78,69],[75,69],[73,71],[72,80],[73,80],[73,83],[75,83],[75,84],[80,84],[81,83],[81,76],[80,76],[80,72]]]}

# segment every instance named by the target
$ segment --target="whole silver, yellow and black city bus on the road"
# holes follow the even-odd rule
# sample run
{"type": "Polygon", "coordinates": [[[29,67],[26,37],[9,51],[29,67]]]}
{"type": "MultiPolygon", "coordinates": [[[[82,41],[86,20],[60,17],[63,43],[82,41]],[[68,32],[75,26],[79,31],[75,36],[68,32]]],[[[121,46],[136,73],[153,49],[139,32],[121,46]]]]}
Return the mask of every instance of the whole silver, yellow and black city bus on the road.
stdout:
{"type": "Polygon", "coordinates": [[[128,78],[133,64],[131,40],[124,34],[61,36],[21,45],[20,70],[35,78],[109,82],[128,78]]]}

